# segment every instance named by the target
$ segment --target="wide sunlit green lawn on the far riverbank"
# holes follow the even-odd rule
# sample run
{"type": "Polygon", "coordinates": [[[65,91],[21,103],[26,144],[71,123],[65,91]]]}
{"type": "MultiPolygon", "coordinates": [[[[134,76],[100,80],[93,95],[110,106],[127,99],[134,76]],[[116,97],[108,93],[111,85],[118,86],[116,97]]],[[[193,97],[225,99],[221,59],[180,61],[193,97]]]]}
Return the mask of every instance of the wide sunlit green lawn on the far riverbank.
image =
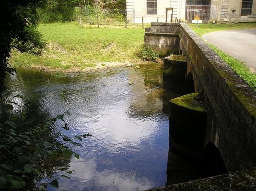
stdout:
{"type": "Polygon", "coordinates": [[[139,62],[135,55],[143,44],[141,26],[79,27],[76,22],[41,24],[38,30],[47,41],[41,56],[12,52],[14,67],[31,65],[81,69],[101,62],[139,62]]]}

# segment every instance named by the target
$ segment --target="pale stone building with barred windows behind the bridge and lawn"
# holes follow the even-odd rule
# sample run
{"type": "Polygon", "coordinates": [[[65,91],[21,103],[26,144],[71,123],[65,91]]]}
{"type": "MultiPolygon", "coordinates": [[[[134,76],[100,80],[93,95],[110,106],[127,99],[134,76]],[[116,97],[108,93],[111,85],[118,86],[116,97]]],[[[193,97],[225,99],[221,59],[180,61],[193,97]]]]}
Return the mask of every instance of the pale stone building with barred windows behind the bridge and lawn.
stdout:
{"type": "Polygon", "coordinates": [[[130,23],[256,21],[256,0],[127,0],[130,23]]]}

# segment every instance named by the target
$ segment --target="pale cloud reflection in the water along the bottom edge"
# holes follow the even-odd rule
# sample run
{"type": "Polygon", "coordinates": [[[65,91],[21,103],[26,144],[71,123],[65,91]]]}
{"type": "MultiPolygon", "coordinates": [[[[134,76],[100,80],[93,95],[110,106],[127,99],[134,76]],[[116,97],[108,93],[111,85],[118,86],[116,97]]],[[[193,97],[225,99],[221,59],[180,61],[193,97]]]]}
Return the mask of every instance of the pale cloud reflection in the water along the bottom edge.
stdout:
{"type": "MultiPolygon", "coordinates": [[[[73,159],[70,166],[75,172],[71,174],[70,181],[59,181],[58,190],[90,191],[93,188],[98,191],[141,191],[154,186],[153,182],[145,177],[136,178],[134,172],[99,170],[96,159],[73,159]]],[[[49,186],[47,190],[54,188],[49,186]]]]}

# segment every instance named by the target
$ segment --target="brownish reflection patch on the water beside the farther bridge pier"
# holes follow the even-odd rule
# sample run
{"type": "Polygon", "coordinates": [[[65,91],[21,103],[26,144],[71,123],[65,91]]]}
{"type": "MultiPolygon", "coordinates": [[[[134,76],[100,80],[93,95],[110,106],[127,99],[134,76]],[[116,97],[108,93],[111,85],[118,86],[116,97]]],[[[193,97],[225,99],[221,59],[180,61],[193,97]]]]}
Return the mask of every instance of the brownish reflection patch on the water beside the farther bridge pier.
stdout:
{"type": "Polygon", "coordinates": [[[131,87],[134,95],[130,101],[128,115],[144,118],[157,114],[161,110],[169,114],[169,100],[180,95],[162,88],[163,65],[156,63],[142,65],[139,72],[135,77],[130,76],[135,84],[131,87]],[[136,82],[138,76],[143,79],[143,83],[136,82]]]}

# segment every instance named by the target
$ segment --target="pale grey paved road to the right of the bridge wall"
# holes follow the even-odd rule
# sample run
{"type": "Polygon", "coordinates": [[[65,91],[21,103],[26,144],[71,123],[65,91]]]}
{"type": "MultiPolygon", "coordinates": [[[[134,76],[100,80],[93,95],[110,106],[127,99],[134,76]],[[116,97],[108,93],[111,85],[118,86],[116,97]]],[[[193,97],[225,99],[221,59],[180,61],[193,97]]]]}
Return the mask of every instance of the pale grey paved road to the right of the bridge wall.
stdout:
{"type": "Polygon", "coordinates": [[[225,30],[202,36],[225,53],[245,62],[256,73],[256,29],[225,30]]]}

